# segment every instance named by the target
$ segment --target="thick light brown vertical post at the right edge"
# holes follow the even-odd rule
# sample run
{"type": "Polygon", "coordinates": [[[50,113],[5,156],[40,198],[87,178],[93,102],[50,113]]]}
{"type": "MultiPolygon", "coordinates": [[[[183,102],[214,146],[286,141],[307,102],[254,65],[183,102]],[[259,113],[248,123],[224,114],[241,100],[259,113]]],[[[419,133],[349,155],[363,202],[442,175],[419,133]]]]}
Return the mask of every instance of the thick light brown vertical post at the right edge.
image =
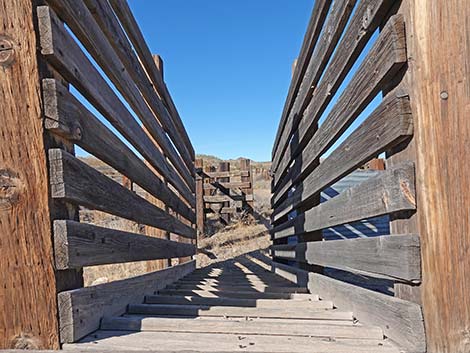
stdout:
{"type": "Polygon", "coordinates": [[[407,0],[428,352],[470,350],[470,6],[407,0]]]}

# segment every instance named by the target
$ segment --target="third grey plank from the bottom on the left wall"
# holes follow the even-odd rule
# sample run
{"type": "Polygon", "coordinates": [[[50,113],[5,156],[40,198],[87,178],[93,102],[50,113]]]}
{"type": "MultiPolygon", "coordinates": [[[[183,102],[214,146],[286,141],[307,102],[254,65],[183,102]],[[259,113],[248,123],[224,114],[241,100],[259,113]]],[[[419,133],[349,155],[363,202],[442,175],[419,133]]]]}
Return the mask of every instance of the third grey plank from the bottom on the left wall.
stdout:
{"type": "Polygon", "coordinates": [[[90,209],[111,213],[187,238],[195,231],[121,184],[71,156],[49,150],[51,196],[90,209]]]}

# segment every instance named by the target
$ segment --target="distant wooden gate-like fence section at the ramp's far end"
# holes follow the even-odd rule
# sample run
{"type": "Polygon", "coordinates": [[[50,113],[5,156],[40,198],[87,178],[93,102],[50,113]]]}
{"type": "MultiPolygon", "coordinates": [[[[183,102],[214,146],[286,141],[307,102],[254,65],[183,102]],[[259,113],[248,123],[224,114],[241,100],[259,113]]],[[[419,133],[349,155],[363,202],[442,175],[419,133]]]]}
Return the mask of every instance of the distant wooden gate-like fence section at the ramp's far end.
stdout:
{"type": "MultiPolygon", "coordinates": [[[[204,233],[206,214],[213,213],[225,224],[231,216],[241,212],[253,212],[253,173],[251,161],[241,159],[237,170],[231,170],[230,162],[220,162],[218,168],[204,166],[203,160],[196,160],[196,172],[200,193],[196,203],[202,212],[198,213],[198,229],[204,233]]],[[[198,186],[196,187],[198,188],[198,186]]]]}

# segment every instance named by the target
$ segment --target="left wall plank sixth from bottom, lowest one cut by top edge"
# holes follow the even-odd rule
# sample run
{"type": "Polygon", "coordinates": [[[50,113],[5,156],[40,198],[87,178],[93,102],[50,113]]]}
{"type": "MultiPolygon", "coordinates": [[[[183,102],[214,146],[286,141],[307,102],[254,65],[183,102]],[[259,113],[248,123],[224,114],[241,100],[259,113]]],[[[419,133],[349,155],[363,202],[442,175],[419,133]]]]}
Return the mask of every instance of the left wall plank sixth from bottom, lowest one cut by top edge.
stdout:
{"type": "MultiPolygon", "coordinates": [[[[139,92],[136,83],[129,74],[129,69],[133,68],[132,65],[130,63],[129,65],[123,65],[120,57],[96,23],[83,0],[49,0],[48,3],[60,14],[60,17],[70,27],[98,65],[100,65],[119,92],[121,92],[147,131],[158,143],[158,146],[164,151],[167,158],[171,160],[190,190],[194,192],[194,179],[150,110],[149,105],[158,111],[158,117],[161,120],[164,119],[163,117],[167,117],[168,112],[162,104],[157,106],[157,100],[149,103],[149,105],[146,103],[142,93],[139,92]]],[[[124,43],[119,45],[123,46],[124,43]]],[[[125,54],[122,57],[129,59],[125,54]]],[[[126,60],[127,62],[128,60],[126,60]]],[[[167,118],[169,119],[169,117],[167,118]]],[[[192,161],[190,162],[192,168],[192,161]]]]}

